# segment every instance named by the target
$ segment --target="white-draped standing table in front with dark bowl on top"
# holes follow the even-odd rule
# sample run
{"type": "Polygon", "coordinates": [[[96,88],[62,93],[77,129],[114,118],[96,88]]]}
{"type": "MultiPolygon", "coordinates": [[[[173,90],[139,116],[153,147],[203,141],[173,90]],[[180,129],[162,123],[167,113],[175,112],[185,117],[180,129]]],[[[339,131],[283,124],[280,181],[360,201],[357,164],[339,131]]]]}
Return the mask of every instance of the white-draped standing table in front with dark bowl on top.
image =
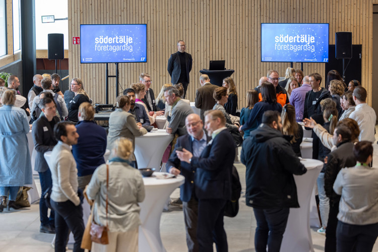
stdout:
{"type": "Polygon", "coordinates": [[[181,175],[168,179],[144,177],[143,182],[146,198],[140,204],[142,225],[139,227],[139,251],[165,251],[160,237],[161,213],[169,195],[184,183],[184,177],[181,175]]]}

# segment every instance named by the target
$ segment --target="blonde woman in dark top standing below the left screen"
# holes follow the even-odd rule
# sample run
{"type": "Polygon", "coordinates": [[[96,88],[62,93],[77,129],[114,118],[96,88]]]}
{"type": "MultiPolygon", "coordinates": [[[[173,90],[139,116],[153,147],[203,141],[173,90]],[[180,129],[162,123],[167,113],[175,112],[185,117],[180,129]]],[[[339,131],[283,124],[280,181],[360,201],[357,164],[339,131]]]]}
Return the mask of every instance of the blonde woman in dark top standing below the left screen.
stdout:
{"type": "Polygon", "coordinates": [[[88,94],[84,91],[83,82],[79,78],[74,78],[71,81],[71,91],[75,93],[74,98],[67,104],[68,118],[67,120],[77,123],[79,106],[83,102],[89,102],[88,94]]]}

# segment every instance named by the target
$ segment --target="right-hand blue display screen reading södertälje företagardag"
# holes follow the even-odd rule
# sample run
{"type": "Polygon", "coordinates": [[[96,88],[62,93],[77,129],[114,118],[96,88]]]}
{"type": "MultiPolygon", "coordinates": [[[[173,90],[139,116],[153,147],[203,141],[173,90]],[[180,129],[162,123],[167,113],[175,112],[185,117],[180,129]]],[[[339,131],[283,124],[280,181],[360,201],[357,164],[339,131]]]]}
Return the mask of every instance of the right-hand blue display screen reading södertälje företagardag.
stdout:
{"type": "Polygon", "coordinates": [[[261,61],[328,62],[329,24],[261,24],[261,61]]]}

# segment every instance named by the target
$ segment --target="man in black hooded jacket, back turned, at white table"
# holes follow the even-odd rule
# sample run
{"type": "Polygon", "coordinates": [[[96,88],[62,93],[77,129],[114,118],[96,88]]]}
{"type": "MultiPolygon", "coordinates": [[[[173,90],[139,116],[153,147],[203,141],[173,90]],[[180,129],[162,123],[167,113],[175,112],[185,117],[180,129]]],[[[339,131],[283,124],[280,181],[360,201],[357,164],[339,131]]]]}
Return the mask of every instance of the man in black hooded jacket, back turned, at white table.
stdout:
{"type": "Polygon", "coordinates": [[[246,166],[245,202],[254,208],[257,222],[256,251],[279,251],[289,208],[298,208],[292,174],[304,174],[300,163],[281,131],[277,111],[264,113],[262,124],[243,142],[241,162],[246,166]],[[264,157],[264,158],[262,158],[264,157]]]}

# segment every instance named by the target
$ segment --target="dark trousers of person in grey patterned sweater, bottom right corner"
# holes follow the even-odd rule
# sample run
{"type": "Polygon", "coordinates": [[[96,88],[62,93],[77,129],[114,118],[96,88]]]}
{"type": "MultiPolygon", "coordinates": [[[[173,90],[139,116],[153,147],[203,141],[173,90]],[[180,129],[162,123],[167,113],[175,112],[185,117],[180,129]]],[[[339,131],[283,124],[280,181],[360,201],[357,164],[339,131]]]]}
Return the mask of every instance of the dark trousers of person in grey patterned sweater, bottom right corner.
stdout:
{"type": "Polygon", "coordinates": [[[336,251],[371,251],[377,236],[378,223],[352,225],[339,221],[336,229],[336,251]]]}

